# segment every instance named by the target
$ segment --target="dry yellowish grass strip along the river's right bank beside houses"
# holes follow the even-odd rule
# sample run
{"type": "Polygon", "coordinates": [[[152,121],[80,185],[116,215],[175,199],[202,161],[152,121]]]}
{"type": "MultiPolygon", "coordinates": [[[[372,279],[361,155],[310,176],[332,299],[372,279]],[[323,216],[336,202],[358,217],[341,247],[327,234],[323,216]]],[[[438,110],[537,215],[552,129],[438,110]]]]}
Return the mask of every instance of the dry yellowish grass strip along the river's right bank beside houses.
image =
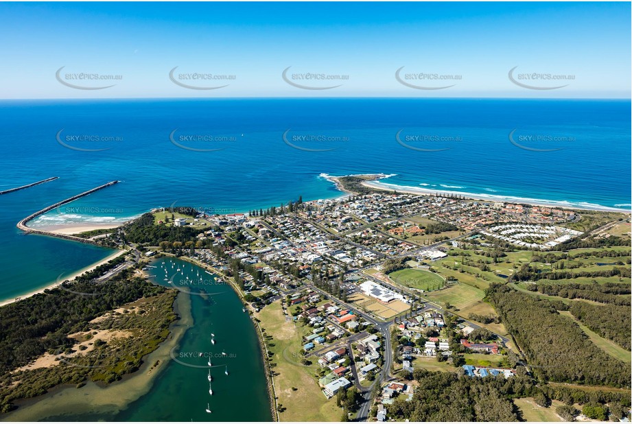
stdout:
{"type": "Polygon", "coordinates": [[[329,399],[321,392],[314,374],[316,362],[310,366],[301,364],[303,344],[301,338],[307,328],[285,320],[279,301],[272,303],[255,314],[261,320],[261,328],[272,336],[268,349],[274,353],[272,368],[279,373],[274,377],[279,403],[287,408],[281,412],[281,421],[339,421],[342,409],[336,406],[336,399],[329,399]],[[298,388],[298,390],[292,390],[298,388]]]}

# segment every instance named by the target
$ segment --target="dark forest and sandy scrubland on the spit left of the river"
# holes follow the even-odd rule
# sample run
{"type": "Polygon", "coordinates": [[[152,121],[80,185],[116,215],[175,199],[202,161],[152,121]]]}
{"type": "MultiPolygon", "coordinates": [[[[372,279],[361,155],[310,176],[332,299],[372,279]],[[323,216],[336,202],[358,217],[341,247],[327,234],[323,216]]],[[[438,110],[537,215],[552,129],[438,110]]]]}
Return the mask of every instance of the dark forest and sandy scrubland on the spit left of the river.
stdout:
{"type": "Polygon", "coordinates": [[[119,380],[167,338],[176,290],[127,272],[113,280],[98,296],[77,294],[95,290],[84,280],[0,308],[1,412],[59,384],[119,380]]]}

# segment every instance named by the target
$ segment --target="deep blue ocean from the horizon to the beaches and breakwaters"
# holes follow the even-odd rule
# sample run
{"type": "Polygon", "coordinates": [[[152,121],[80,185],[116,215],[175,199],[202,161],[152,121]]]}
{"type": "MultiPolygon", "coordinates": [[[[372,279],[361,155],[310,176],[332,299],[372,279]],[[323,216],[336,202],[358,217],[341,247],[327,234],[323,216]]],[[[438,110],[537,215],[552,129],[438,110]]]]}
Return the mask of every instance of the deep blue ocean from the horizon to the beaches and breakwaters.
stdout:
{"type": "Polygon", "coordinates": [[[122,182],[32,224],[338,196],[323,173],[396,174],[386,182],[581,206],[631,203],[629,100],[3,101],[0,125],[0,190],[60,177],[0,196],[0,299],[108,254],[19,235],[15,223],[110,180],[122,182]]]}

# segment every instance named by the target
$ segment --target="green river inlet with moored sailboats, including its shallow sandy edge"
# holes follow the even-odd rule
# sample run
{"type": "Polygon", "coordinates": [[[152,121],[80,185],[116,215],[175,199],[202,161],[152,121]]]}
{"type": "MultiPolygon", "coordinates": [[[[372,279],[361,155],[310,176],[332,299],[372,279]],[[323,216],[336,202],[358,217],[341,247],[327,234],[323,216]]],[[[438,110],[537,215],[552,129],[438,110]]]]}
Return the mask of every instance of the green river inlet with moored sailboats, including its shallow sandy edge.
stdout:
{"type": "Polygon", "coordinates": [[[255,327],[230,285],[219,290],[212,274],[180,259],[150,265],[154,283],[180,290],[174,303],[180,319],[141,369],[106,387],[90,382],[21,401],[3,421],[209,421],[207,407],[213,421],[272,421],[255,327]],[[202,279],[213,287],[205,291],[216,294],[187,283],[202,279]]]}

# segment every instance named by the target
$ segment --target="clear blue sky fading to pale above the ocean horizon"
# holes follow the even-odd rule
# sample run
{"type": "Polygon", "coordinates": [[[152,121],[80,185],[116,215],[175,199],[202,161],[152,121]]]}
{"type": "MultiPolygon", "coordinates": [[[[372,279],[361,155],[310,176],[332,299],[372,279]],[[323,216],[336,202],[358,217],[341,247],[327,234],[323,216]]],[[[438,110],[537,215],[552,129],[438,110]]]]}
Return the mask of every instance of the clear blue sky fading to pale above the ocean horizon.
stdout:
{"type": "Polygon", "coordinates": [[[0,3],[0,98],[630,98],[630,14],[629,2],[0,3]]]}

